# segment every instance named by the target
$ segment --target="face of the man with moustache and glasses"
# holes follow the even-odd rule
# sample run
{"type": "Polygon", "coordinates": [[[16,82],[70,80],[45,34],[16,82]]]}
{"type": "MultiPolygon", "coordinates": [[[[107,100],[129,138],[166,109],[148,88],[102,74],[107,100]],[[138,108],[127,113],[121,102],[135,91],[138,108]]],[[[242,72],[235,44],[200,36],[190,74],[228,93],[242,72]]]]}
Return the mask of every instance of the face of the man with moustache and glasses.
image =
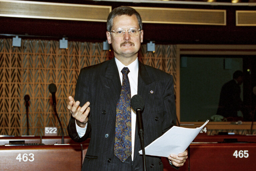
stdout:
{"type": "MultiPolygon", "coordinates": [[[[137,17],[135,15],[121,15],[114,17],[111,31],[117,28],[129,30],[132,27],[140,28],[137,17]]],[[[112,44],[114,55],[118,60],[121,62],[123,60],[134,61],[137,58],[138,51],[143,42],[143,30],[141,30],[137,36],[130,36],[128,31],[125,31],[121,37],[116,37],[113,32],[110,33],[107,31],[106,34],[108,43],[112,44]]]]}

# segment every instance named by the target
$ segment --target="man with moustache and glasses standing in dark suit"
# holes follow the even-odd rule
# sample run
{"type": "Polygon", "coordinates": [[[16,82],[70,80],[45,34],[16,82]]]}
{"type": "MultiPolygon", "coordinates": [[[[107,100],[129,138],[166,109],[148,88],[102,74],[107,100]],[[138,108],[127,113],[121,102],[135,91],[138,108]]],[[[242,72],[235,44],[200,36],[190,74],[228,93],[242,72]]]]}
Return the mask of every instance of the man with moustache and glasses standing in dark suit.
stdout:
{"type": "MultiPolygon", "coordinates": [[[[138,94],[145,102],[142,117],[146,147],[175,124],[173,77],[138,61],[143,30],[141,17],[133,8],[115,8],[108,16],[106,35],[114,58],[81,69],[75,97],[69,97],[67,106],[72,115],[68,132],[77,142],[90,138],[83,171],[141,171],[143,159],[138,153],[141,143],[136,114],[129,106],[130,100],[120,100],[122,93],[124,98],[138,94]],[[120,109],[120,103],[127,107],[120,109]],[[122,118],[125,124],[121,128],[120,117],[126,118],[122,118]],[[121,132],[119,137],[118,132],[121,132]]],[[[172,154],[168,159],[173,166],[182,166],[187,151],[178,156],[172,154]]],[[[148,170],[163,170],[161,157],[146,156],[146,164],[148,170]]]]}

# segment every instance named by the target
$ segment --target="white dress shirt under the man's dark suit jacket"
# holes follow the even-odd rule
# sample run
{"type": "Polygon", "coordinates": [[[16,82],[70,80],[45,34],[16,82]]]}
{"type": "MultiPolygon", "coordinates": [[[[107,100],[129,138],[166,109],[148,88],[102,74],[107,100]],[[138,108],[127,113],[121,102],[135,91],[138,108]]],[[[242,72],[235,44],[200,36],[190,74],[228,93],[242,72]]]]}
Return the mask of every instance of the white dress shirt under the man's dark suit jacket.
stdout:
{"type": "MultiPolygon", "coordinates": [[[[125,66],[124,64],[122,64],[116,58],[115,58],[115,62],[116,62],[117,68],[118,68],[121,84],[122,84],[121,70],[122,70],[123,67],[128,67],[129,68],[130,72],[128,73],[128,78],[129,78],[130,86],[131,86],[131,97],[133,97],[134,95],[137,95],[137,92],[138,92],[138,72],[139,72],[138,57],[134,62],[132,62],[128,66],[125,66]]],[[[76,130],[77,130],[77,133],[78,133],[80,138],[84,136],[86,128],[87,128],[87,124],[86,124],[85,128],[81,128],[76,124],[76,130]]],[[[132,109],[132,160],[133,160],[133,157],[134,157],[135,129],[136,129],[136,113],[132,109]]]]}

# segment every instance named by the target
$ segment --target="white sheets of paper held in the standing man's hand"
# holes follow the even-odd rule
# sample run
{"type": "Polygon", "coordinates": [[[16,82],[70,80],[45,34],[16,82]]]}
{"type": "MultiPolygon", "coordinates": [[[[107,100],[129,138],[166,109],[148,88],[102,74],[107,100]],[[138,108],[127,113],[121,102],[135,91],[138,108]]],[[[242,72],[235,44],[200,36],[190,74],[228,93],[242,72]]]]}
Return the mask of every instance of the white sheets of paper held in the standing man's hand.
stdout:
{"type": "MultiPolygon", "coordinates": [[[[170,154],[178,155],[184,152],[208,122],[209,120],[199,128],[173,126],[161,137],[145,147],[145,154],[168,157],[170,154]]],[[[139,154],[142,154],[142,150],[139,151],[139,154]]]]}

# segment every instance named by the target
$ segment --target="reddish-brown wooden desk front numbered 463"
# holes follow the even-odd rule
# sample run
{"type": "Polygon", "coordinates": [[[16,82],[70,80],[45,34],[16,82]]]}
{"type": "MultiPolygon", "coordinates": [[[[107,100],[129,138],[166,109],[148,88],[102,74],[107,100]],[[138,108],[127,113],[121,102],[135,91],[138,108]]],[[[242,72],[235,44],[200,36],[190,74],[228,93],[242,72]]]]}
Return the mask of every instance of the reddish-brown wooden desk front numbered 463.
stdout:
{"type": "Polygon", "coordinates": [[[0,146],[1,170],[81,171],[81,145],[0,146]]]}

